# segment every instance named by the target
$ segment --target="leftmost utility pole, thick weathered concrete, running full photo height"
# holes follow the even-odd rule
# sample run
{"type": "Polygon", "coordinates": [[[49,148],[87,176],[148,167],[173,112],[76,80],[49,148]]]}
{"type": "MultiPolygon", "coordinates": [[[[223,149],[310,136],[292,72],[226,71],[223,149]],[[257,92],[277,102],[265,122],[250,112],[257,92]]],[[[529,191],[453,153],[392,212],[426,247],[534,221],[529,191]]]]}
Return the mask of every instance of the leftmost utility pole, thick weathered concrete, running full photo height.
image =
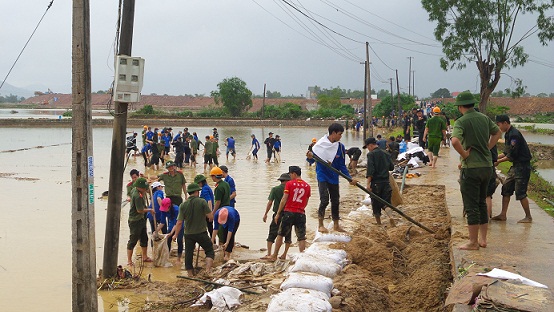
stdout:
{"type": "Polygon", "coordinates": [[[98,311],[88,0],[73,0],[71,119],[72,310],[98,311]]]}

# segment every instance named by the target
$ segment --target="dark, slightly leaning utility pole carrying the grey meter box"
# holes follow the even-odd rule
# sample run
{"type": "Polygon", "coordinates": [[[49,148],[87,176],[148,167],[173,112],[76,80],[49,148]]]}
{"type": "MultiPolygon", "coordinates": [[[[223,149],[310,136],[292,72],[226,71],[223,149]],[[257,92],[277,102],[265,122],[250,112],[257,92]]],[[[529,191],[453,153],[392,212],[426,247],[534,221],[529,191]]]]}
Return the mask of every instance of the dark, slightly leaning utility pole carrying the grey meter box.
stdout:
{"type": "MultiPolygon", "coordinates": [[[[124,0],[122,11],[118,55],[131,56],[135,0],[124,0]]],[[[117,77],[115,77],[115,79],[117,79],[117,77]]],[[[121,192],[123,189],[123,166],[125,160],[125,134],[127,129],[128,104],[114,102],[114,105],[115,112],[110,161],[110,184],[108,187],[108,212],[106,215],[106,236],[104,239],[104,263],[102,265],[104,278],[112,277],[117,273],[121,192]]]]}

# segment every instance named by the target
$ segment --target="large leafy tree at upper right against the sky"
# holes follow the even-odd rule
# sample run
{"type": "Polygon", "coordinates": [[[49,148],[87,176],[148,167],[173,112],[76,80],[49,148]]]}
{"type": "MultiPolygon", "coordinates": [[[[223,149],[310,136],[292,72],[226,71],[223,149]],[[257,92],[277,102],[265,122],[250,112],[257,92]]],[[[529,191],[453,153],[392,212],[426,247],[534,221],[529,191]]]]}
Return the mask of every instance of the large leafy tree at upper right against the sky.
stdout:
{"type": "Polygon", "coordinates": [[[480,76],[479,109],[486,111],[504,69],[524,65],[529,55],[522,42],[537,34],[543,45],[554,37],[554,19],[547,16],[554,1],[542,0],[422,0],[429,20],[436,21],[435,37],[445,56],[442,69],[462,69],[475,63],[480,76]],[[538,14],[537,23],[520,30],[520,14],[538,14]],[[517,36],[517,34],[523,34],[517,36]]]}

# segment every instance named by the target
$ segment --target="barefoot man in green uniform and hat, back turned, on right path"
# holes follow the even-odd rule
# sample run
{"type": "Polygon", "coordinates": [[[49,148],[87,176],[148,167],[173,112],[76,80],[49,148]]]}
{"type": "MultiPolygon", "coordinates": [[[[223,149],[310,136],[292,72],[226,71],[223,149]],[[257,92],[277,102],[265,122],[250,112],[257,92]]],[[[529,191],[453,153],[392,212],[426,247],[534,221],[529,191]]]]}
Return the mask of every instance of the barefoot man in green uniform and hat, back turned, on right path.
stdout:
{"type": "Polygon", "coordinates": [[[467,217],[469,242],[463,250],[487,247],[487,187],[492,174],[490,149],[496,145],[502,132],[487,116],[474,108],[477,101],[469,91],[461,92],[454,105],[463,114],[456,120],[452,146],[460,154],[460,192],[467,217]]]}

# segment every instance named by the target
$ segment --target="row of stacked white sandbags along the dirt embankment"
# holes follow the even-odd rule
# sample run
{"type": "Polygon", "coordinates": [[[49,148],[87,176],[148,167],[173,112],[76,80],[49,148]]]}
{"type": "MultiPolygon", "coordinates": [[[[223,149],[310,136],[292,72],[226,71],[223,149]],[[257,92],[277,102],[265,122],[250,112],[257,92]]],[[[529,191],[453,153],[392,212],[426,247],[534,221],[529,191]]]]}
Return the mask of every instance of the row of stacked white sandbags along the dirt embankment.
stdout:
{"type": "Polygon", "coordinates": [[[331,312],[332,278],[340,273],[347,260],[344,250],[333,249],[329,243],[350,240],[344,234],[318,232],[314,243],[293,258],[295,264],[281,284],[282,292],[272,296],[267,311],[331,312]]]}

